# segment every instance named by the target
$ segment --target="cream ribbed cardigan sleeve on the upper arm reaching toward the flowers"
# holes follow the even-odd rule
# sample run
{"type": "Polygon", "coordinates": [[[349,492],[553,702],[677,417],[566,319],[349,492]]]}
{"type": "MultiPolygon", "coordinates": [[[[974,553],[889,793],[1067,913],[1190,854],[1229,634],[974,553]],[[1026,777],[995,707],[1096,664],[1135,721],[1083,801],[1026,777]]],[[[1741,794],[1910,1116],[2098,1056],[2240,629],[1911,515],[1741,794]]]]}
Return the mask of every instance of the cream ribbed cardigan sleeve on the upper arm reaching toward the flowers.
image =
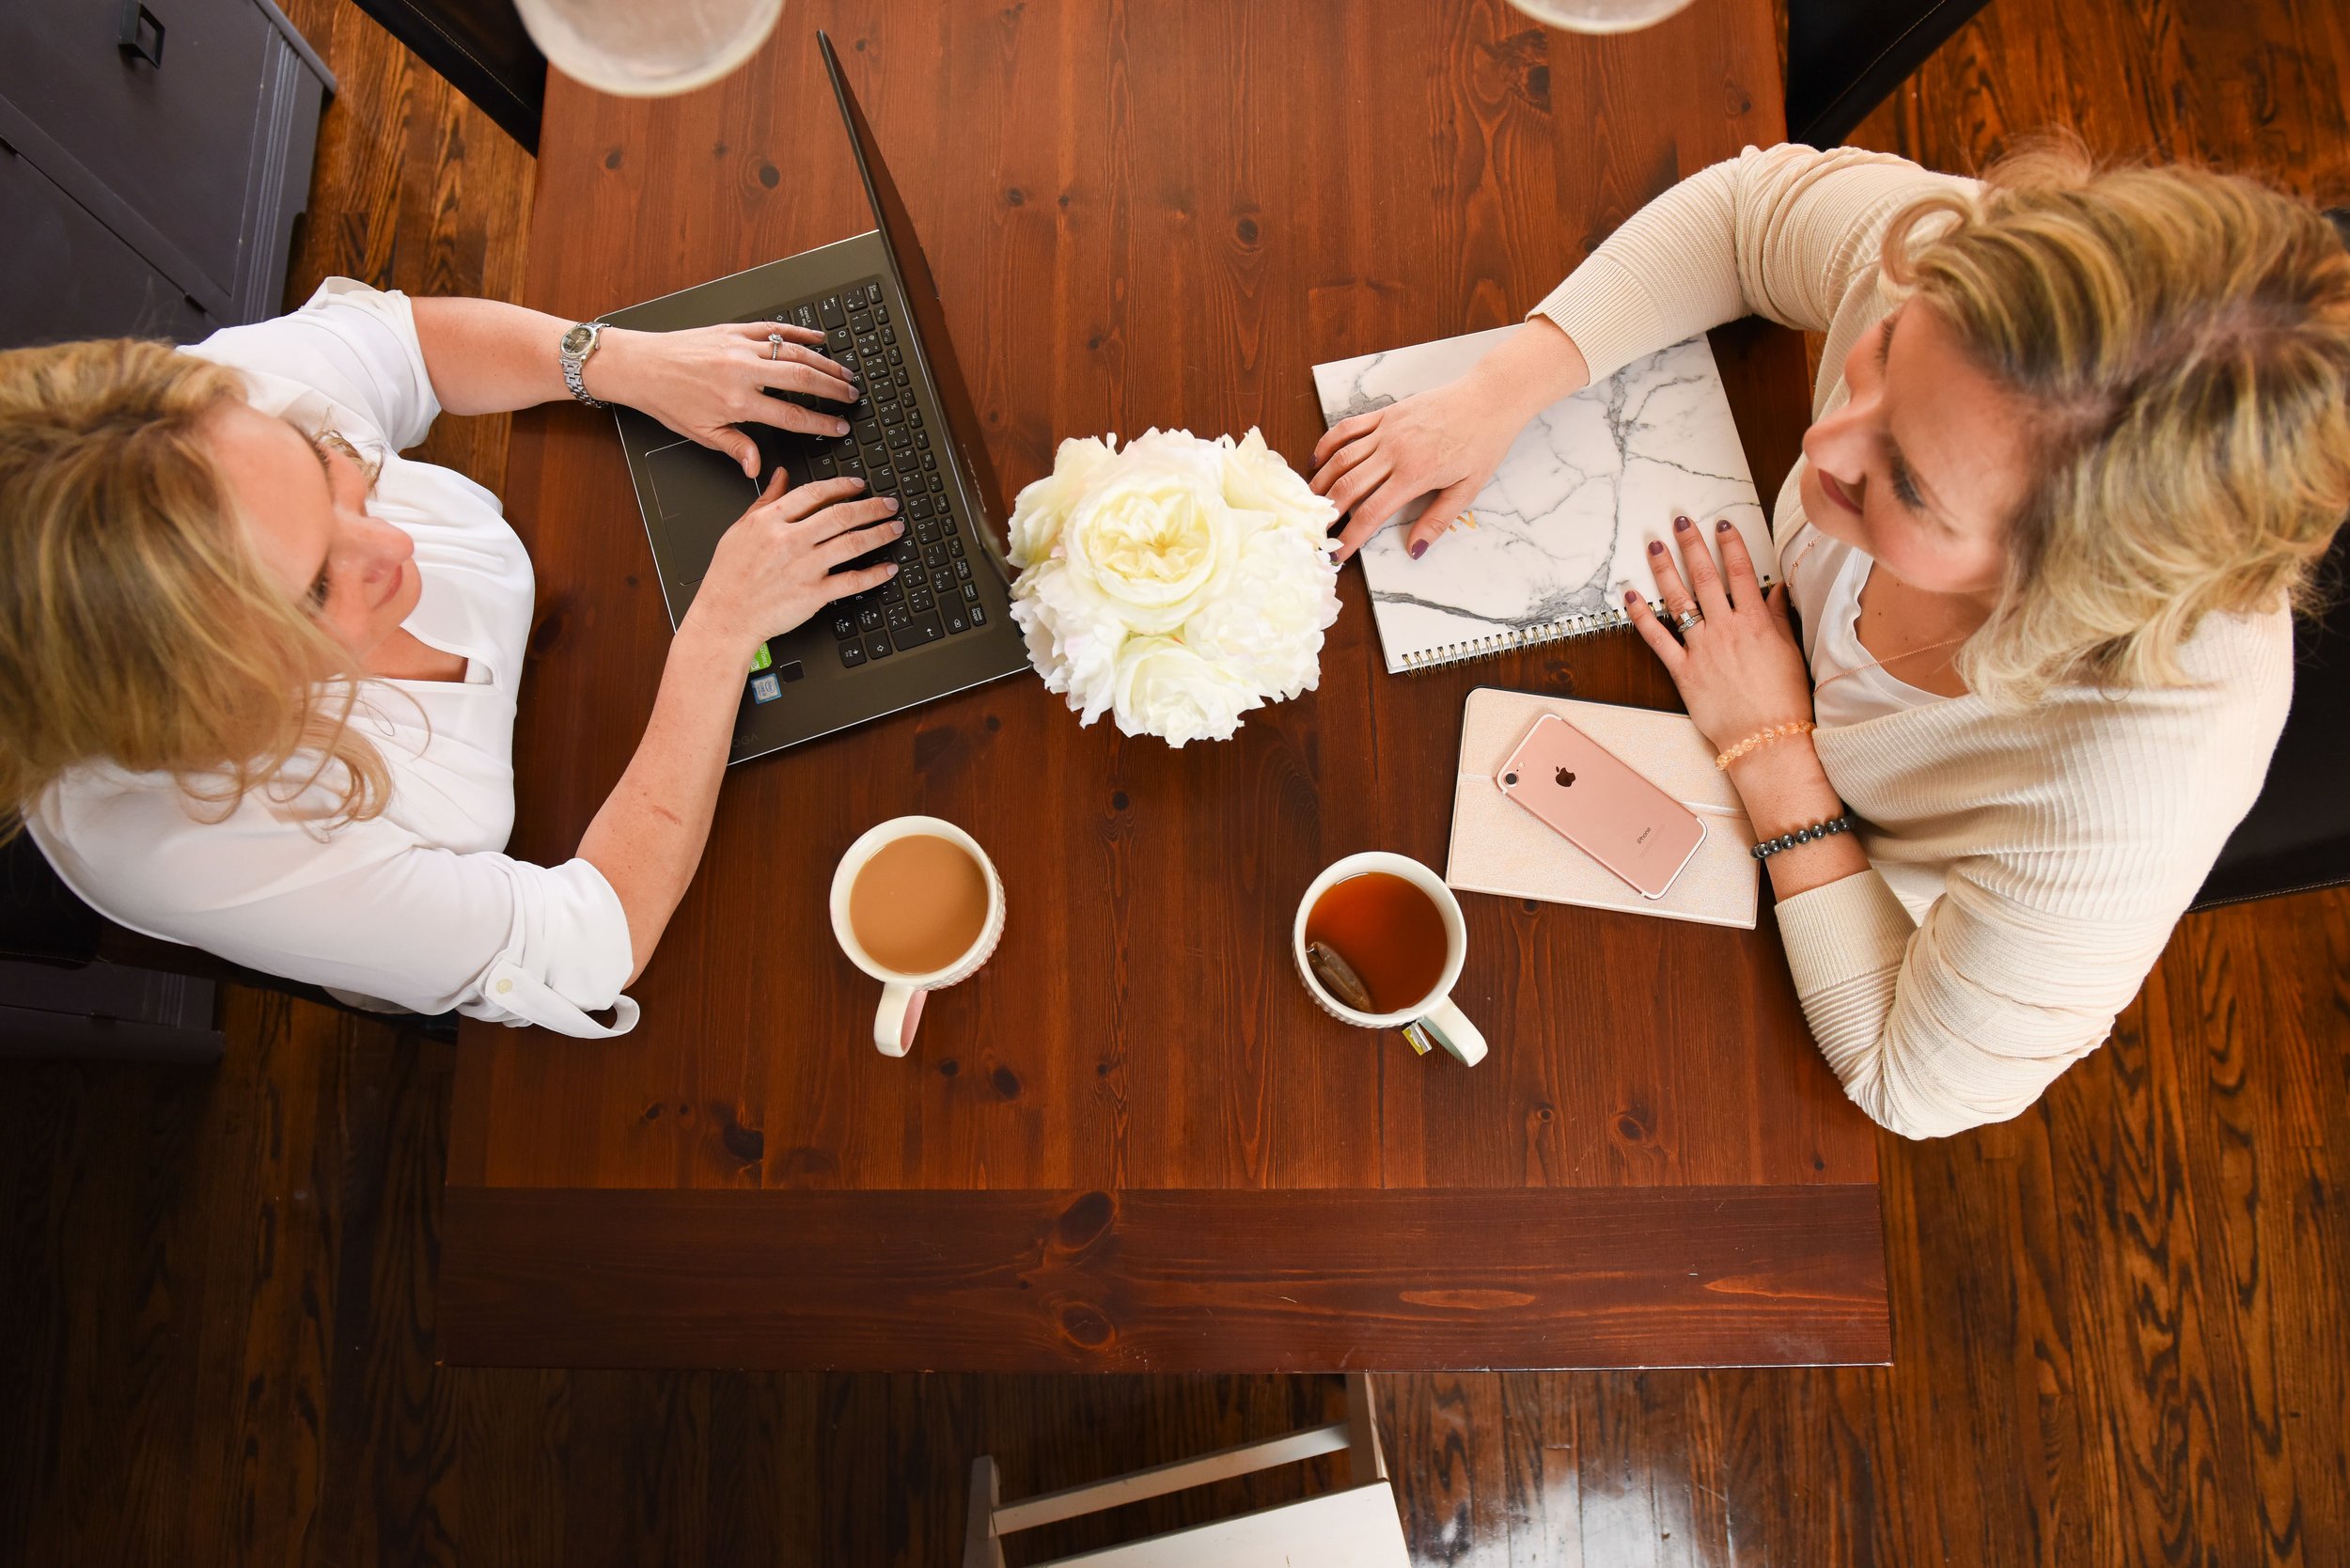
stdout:
{"type": "Polygon", "coordinates": [[[1746,148],[1626,219],[1528,315],[1574,339],[1593,381],[1741,315],[1828,331],[1885,221],[1936,190],[1974,181],[1859,148],[1746,148]]]}

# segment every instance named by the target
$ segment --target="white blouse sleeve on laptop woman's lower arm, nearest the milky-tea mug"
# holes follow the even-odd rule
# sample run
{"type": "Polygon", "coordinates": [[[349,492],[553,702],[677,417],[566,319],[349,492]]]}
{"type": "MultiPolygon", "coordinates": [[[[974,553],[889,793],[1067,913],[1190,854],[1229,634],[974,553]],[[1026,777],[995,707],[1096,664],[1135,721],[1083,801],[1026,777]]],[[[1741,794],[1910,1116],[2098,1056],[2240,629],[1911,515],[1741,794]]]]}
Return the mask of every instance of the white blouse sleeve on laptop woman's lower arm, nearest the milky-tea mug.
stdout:
{"type": "Polygon", "coordinates": [[[637,1023],[620,994],[634,966],[627,912],[588,860],[456,853],[383,820],[320,844],[284,832],[254,797],[200,832],[172,830],[176,811],[127,797],[66,832],[47,813],[31,825],[113,919],[235,964],[557,1034],[625,1034],[637,1023]],[[609,1023],[590,1016],[606,1009],[609,1023]]]}

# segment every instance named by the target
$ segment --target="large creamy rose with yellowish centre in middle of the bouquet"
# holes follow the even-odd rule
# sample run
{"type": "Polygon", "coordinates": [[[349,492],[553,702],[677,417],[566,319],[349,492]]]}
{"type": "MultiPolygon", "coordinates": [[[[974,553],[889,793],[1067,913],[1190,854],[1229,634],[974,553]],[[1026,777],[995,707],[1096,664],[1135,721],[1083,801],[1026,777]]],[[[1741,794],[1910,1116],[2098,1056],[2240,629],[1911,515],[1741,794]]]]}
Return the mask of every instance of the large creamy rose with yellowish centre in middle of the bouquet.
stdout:
{"type": "Polygon", "coordinates": [[[1222,590],[1238,555],[1224,451],[1189,430],[1149,430],[1090,475],[1060,531],[1072,588],[1135,632],[1173,632],[1222,590]]]}

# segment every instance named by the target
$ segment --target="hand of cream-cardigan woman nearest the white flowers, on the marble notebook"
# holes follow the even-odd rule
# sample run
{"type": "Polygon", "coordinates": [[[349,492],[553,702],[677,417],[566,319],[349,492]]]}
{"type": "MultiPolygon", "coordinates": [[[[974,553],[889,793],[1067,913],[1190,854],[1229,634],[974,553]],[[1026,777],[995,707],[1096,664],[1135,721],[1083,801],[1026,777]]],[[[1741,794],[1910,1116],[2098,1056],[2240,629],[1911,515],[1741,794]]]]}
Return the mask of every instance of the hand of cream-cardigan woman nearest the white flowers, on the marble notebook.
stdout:
{"type": "Polygon", "coordinates": [[[1419,559],[1485,489],[1525,421],[1586,381],[1584,350],[1537,315],[1459,381],[1330,425],[1314,444],[1314,494],[1347,515],[1337,559],[1415,496],[1434,496],[1408,541],[1419,559]]]}

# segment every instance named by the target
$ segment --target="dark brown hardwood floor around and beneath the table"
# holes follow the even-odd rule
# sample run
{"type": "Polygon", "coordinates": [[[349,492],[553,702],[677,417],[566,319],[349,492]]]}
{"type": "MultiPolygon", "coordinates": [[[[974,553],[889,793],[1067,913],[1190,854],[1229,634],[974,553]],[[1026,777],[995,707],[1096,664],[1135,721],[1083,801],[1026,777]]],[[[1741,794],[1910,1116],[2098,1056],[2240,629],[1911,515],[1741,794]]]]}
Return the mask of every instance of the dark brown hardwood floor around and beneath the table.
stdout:
{"type": "MultiPolygon", "coordinates": [[[[1859,134],[2077,125],[2350,195],[2350,19],[1995,0],[1859,134]]],[[[291,294],[498,294],[529,160],[348,5],[291,294]]],[[[501,421],[435,451],[496,484],[501,421]]],[[[1335,1415],[1335,1382],[432,1361],[454,1048],[230,999],[216,1072],[0,1065],[0,1563],[956,1561],[1029,1493],[1335,1415]]],[[[2190,917],[2026,1117],[1882,1140],[1889,1371],[1389,1380],[1422,1563],[2350,1561],[2350,889],[2190,917]]],[[[1323,1476],[1328,1481],[1330,1476],[1323,1476]]],[[[1290,1495],[1128,1509],[1015,1561],[1290,1495]]]]}

